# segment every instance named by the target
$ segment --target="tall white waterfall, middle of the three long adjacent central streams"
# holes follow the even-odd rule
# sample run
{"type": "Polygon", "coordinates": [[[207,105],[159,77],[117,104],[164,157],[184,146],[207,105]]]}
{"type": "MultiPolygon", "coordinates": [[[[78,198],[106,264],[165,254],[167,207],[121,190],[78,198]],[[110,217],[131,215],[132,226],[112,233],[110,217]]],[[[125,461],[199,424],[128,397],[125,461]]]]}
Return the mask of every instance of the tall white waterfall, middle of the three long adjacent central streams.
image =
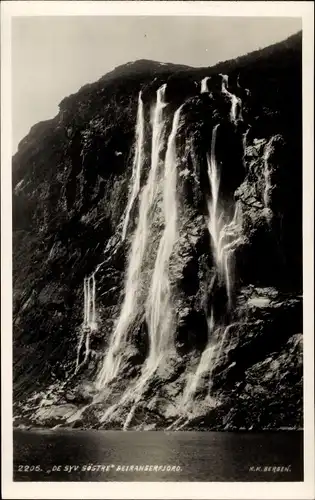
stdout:
{"type": "MultiPolygon", "coordinates": [[[[127,265],[124,299],[120,315],[116,322],[110,344],[105,354],[103,366],[97,377],[97,385],[102,388],[116,377],[122,362],[122,354],[128,333],[139,315],[143,314],[143,291],[141,290],[141,271],[149,237],[150,209],[158,192],[158,171],[160,154],[163,148],[165,121],[163,110],[166,106],[166,84],[157,91],[157,100],[152,120],[151,166],[147,183],[140,195],[139,216],[136,230],[132,237],[131,251],[127,265]],[[140,301],[140,299],[142,300],[140,301]],[[141,302],[141,304],[140,304],[141,302]]],[[[138,148],[136,148],[137,150],[138,148]]]]}

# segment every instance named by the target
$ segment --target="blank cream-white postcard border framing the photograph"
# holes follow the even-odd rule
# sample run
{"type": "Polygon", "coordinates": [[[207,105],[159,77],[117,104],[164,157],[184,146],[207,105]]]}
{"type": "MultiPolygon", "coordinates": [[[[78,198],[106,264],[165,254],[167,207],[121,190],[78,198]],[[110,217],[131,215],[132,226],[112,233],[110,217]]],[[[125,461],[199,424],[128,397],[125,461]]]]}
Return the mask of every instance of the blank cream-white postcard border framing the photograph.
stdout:
{"type": "MultiPolygon", "coordinates": [[[[3,498],[314,498],[314,8],[312,2],[5,1],[1,4],[1,369],[3,498]],[[12,224],[11,19],[14,16],[183,15],[301,17],[303,23],[303,482],[13,482],[12,460],[12,224]]],[[[290,105],[290,103],[288,103],[290,105]]],[[[294,202],[294,201],[292,201],[294,202]]]]}

